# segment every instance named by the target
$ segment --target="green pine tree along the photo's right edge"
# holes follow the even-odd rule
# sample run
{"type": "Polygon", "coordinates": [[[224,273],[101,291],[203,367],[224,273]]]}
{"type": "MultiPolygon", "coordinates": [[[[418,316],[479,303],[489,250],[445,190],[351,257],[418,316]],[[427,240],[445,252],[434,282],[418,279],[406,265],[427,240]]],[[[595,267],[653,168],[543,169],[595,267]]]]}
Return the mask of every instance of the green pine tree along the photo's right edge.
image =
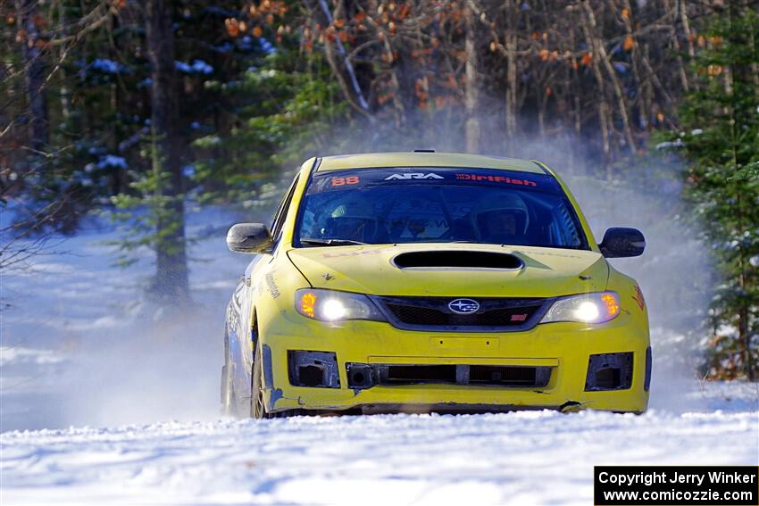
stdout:
{"type": "Polygon", "coordinates": [[[759,15],[731,2],[694,61],[696,88],[672,137],[721,273],[707,372],[759,377],[759,15]]]}

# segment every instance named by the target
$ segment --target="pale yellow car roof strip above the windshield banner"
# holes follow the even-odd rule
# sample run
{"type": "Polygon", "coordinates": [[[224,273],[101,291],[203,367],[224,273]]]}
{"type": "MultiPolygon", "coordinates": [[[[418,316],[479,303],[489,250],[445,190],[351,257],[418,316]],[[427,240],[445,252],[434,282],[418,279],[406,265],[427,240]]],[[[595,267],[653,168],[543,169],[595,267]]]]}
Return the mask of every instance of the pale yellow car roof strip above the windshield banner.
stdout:
{"type": "Polygon", "coordinates": [[[534,160],[486,156],[468,153],[360,153],[340,154],[321,158],[317,171],[371,169],[388,167],[467,167],[471,169],[501,169],[547,174],[534,160]]]}

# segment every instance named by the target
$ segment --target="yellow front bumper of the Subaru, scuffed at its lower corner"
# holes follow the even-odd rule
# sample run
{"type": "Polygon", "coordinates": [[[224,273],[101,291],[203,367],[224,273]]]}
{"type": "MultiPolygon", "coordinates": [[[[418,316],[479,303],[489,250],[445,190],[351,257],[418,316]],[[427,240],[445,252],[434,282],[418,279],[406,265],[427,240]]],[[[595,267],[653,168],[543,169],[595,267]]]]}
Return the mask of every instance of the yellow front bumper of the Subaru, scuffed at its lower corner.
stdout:
{"type": "MultiPolygon", "coordinates": [[[[263,323],[263,322],[260,322],[263,323]]],[[[264,402],[268,411],[501,411],[589,408],[646,411],[650,378],[648,330],[626,312],[595,326],[550,323],[524,332],[435,333],[393,328],[376,321],[327,323],[284,311],[260,328],[264,402]],[[332,385],[292,385],[288,355],[335,353],[332,385]],[[591,355],[632,353],[630,386],[588,390],[591,355]],[[647,357],[646,357],[647,355],[647,357]],[[350,387],[347,364],[513,366],[550,368],[545,386],[422,383],[350,387]]],[[[320,356],[327,356],[322,354],[320,356]]],[[[375,368],[376,369],[376,368],[375,368]]],[[[355,383],[355,382],[353,382],[355,383]]]]}

